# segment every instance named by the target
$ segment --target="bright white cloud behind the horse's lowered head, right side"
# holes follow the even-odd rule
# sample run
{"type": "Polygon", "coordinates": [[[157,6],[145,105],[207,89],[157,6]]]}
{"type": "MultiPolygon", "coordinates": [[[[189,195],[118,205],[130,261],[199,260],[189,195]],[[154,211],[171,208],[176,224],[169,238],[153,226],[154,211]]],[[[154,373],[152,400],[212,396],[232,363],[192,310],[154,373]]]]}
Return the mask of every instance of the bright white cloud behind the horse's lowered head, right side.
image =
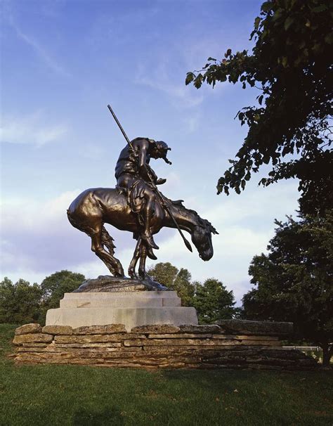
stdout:
{"type": "MultiPolygon", "coordinates": [[[[219,232],[212,238],[214,257],[203,262],[195,247],[193,253],[186,250],[176,231],[170,236],[162,230],[155,238],[161,247],[156,253],[157,262],[171,262],[178,268],[186,268],[192,273],[193,280],[218,278],[228,290],[233,290],[235,299],[240,302],[242,295],[252,287],[248,276],[249,264],[254,255],[266,252],[274,235],[274,219],[283,219],[297,207],[296,187],[296,181],[268,188],[252,184],[242,195],[216,198],[216,204],[212,204],[212,200],[204,200],[204,195],[189,199],[185,206],[196,209],[219,232]],[[204,209],[203,206],[208,204],[209,207],[204,209]]],[[[155,263],[149,261],[149,264],[155,263]]]]}

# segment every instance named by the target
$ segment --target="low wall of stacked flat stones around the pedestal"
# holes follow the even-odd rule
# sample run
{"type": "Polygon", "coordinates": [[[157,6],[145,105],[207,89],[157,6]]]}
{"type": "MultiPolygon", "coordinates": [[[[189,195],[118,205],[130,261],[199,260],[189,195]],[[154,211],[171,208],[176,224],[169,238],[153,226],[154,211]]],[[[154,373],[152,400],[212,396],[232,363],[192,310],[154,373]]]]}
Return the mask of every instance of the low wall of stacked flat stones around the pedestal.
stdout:
{"type": "MultiPolygon", "coordinates": [[[[251,333],[251,332],[249,332],[251,333]]],[[[282,349],[279,336],[240,335],[219,325],[27,324],[16,330],[17,363],[65,363],[139,368],[308,370],[314,359],[282,349]]]]}

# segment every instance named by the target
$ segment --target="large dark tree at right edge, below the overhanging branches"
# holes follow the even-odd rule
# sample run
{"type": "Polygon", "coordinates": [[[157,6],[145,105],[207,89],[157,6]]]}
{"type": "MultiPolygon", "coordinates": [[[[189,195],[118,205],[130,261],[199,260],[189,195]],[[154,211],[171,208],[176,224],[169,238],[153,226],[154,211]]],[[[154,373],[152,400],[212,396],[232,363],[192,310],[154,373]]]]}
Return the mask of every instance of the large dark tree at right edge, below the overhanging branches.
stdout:
{"type": "Polygon", "coordinates": [[[333,355],[333,214],[291,217],[278,228],[268,254],[252,259],[256,288],[243,297],[248,319],[292,321],[296,337],[319,344],[323,364],[333,355]]]}

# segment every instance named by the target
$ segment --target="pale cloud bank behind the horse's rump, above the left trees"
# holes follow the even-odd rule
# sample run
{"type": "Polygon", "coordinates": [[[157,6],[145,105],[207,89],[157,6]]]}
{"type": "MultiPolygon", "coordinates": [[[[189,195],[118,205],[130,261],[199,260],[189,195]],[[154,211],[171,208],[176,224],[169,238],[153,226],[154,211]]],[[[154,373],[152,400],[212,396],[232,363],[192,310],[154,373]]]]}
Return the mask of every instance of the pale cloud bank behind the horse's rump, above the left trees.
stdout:
{"type": "MultiPolygon", "coordinates": [[[[67,191],[46,201],[30,198],[4,200],[1,211],[1,276],[37,280],[61,269],[81,271],[89,278],[110,272],[91,252],[91,240],[73,228],[67,208],[80,193],[67,191]]],[[[135,242],[131,233],[110,228],[115,256],[128,266],[135,242]]]]}

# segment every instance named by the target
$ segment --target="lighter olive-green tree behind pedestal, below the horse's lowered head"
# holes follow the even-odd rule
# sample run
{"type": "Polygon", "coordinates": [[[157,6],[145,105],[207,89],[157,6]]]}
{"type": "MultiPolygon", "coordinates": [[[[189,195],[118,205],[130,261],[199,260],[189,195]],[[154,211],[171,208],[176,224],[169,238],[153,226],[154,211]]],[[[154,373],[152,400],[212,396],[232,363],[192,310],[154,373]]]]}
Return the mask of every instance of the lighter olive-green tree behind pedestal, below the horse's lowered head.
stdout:
{"type": "Polygon", "coordinates": [[[158,283],[176,291],[181,298],[182,306],[192,306],[195,286],[191,283],[191,274],[188,269],[179,270],[170,262],[159,262],[148,270],[148,274],[158,283]]]}

